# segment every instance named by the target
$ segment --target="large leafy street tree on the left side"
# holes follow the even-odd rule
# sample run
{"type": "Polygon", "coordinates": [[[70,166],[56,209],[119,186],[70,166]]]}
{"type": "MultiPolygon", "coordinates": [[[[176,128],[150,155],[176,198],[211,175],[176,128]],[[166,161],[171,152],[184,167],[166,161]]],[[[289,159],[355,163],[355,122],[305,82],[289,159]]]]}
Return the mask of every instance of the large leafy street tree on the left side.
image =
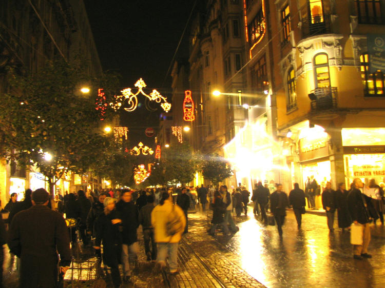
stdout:
{"type": "MultiPolygon", "coordinates": [[[[20,75],[9,69],[7,93],[0,101],[0,152],[21,166],[35,166],[47,177],[50,192],[66,172],[86,172],[108,145],[98,131],[100,113],[95,96],[83,95],[82,84],[91,91],[100,85],[114,86],[117,77],[90,77],[84,61],[48,61],[37,72],[20,75]],[[110,80],[107,80],[109,78],[110,80]]],[[[106,101],[112,97],[105,87],[106,101]]]]}

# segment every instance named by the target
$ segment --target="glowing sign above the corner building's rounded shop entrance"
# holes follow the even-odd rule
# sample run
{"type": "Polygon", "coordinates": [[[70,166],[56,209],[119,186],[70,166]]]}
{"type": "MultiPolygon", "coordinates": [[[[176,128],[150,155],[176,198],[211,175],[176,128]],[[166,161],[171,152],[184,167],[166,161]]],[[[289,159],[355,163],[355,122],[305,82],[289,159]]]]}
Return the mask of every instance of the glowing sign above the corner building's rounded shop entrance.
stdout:
{"type": "Polygon", "coordinates": [[[299,140],[299,160],[308,161],[312,159],[329,156],[328,139],[306,139],[299,140]]]}

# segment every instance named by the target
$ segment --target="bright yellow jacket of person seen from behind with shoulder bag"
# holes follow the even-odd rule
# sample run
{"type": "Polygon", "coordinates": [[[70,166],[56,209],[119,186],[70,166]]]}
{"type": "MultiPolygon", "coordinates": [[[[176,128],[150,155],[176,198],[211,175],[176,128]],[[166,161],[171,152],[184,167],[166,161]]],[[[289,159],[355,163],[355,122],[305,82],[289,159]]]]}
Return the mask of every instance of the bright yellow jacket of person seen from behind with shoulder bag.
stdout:
{"type": "Polygon", "coordinates": [[[182,233],[186,226],[186,217],[184,216],[183,210],[178,205],[174,205],[174,211],[182,221],[182,228],[178,233],[172,236],[166,234],[166,223],[168,221],[168,215],[172,212],[173,205],[174,204],[167,199],[164,201],[163,205],[156,205],[151,212],[151,224],[154,228],[155,242],[157,243],[178,243],[182,238],[182,233]]]}

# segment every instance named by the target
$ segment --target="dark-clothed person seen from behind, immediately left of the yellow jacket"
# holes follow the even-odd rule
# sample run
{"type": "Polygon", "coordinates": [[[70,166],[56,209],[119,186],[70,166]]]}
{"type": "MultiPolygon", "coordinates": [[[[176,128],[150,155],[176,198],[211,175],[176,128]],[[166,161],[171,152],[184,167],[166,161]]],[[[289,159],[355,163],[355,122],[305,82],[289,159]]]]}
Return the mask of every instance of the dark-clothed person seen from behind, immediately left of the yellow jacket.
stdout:
{"type": "Polygon", "coordinates": [[[153,205],[153,196],[147,196],[147,204],[139,211],[139,223],[142,225],[144,250],[147,255],[147,261],[155,261],[157,259],[157,244],[153,234],[153,227],[151,225],[151,212],[155,207],[153,205]],[[150,249],[151,242],[151,249],[150,249]]]}

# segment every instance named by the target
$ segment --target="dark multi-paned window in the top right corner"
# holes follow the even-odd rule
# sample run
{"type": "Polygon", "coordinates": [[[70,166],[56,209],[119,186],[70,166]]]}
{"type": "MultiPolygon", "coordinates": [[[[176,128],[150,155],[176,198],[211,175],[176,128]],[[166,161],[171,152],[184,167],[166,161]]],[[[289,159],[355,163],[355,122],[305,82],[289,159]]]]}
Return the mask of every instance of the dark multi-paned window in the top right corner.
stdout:
{"type": "Polygon", "coordinates": [[[356,0],[358,23],[383,24],[385,23],[381,11],[380,0],[356,0]]]}

